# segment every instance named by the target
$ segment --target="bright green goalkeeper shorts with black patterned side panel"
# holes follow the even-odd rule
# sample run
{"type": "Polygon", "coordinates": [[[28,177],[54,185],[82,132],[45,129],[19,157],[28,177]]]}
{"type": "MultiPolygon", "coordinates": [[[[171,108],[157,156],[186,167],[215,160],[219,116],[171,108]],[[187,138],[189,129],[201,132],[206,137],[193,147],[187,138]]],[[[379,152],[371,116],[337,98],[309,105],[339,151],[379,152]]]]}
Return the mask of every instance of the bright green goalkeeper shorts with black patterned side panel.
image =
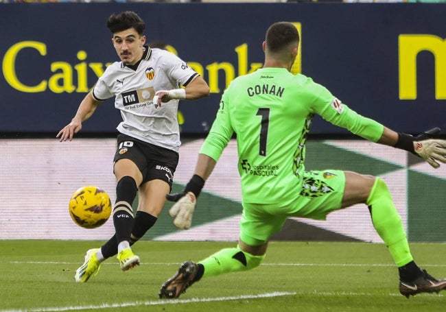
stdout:
{"type": "Polygon", "coordinates": [[[325,220],[340,209],[345,174],[340,170],[307,171],[301,191],[290,190],[290,197],[277,204],[243,203],[240,239],[258,246],[281,230],[287,217],[325,220]]]}

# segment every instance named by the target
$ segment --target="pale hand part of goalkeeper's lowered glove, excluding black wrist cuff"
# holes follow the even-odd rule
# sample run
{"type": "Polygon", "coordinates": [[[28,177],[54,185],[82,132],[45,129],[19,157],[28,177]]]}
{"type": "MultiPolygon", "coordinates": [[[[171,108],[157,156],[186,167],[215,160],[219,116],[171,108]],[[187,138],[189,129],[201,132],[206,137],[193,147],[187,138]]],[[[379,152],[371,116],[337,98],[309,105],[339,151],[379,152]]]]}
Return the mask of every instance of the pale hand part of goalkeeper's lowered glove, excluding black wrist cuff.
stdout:
{"type": "MultiPolygon", "coordinates": [[[[166,197],[167,196],[170,196],[170,198],[176,202],[174,206],[169,209],[169,215],[175,217],[174,225],[177,228],[187,230],[192,224],[192,215],[197,202],[195,195],[193,195],[192,192],[187,192],[186,194],[167,194],[166,197]],[[180,195],[181,197],[179,197],[180,195]]],[[[167,200],[171,199],[167,197],[167,200]]]]}

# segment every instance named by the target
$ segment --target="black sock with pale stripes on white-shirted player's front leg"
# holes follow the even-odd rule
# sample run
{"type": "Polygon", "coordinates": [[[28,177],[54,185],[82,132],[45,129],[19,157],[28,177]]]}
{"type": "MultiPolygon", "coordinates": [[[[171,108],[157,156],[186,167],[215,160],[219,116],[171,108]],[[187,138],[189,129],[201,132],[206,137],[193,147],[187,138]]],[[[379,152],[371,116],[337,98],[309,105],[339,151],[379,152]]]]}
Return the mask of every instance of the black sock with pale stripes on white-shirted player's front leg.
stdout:
{"type": "MultiPolygon", "coordinates": [[[[130,176],[125,176],[117,182],[116,202],[113,208],[113,224],[115,225],[116,241],[130,242],[130,235],[133,226],[134,197],[137,196],[137,183],[130,176]]],[[[119,248],[118,248],[119,250],[119,248]]]]}

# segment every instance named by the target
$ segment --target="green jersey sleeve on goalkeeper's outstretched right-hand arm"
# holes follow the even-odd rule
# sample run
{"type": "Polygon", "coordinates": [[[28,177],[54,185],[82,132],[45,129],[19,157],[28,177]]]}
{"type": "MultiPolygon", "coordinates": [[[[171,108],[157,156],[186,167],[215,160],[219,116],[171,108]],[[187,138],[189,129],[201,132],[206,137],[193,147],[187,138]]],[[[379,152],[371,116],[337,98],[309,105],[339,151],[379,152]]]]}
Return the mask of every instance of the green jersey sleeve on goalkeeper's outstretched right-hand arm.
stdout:
{"type": "Polygon", "coordinates": [[[313,109],[323,119],[368,141],[377,142],[381,138],[384,125],[358,114],[334,97],[327,88],[318,85],[318,89],[313,109]]]}

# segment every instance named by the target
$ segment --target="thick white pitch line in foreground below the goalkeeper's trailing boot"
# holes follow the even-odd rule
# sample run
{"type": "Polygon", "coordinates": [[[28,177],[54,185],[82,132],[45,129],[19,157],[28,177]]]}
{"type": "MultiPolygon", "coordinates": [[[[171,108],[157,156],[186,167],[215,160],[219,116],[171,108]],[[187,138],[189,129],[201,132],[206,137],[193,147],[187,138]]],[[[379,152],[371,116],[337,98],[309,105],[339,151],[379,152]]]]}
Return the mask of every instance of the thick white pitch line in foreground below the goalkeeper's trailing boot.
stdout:
{"type": "Polygon", "coordinates": [[[156,306],[161,304],[180,304],[191,302],[215,302],[215,301],[230,301],[240,299],[257,299],[257,298],[272,298],[280,296],[293,296],[294,292],[274,292],[274,293],[261,293],[259,295],[245,295],[245,296],[231,296],[231,297],[218,297],[218,298],[191,298],[191,299],[174,299],[174,300],[156,300],[156,301],[144,301],[144,302],[124,302],[124,303],[104,303],[88,306],[71,306],[71,307],[54,307],[54,308],[36,308],[36,309],[24,309],[24,310],[0,310],[0,312],[60,312],[60,311],[82,311],[88,309],[116,309],[124,307],[141,307],[141,306],[156,306]]]}

